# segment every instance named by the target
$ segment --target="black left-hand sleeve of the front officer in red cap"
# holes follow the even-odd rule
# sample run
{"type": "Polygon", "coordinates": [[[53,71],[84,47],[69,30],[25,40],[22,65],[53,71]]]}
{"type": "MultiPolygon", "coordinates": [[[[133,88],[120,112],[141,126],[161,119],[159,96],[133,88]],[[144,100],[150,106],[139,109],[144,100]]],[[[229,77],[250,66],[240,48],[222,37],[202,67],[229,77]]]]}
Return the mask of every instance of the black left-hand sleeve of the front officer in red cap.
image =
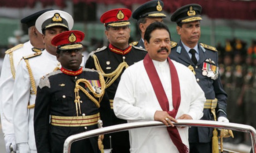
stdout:
{"type": "Polygon", "coordinates": [[[48,138],[51,93],[48,87],[37,88],[34,111],[34,132],[37,153],[50,153],[48,138]]]}

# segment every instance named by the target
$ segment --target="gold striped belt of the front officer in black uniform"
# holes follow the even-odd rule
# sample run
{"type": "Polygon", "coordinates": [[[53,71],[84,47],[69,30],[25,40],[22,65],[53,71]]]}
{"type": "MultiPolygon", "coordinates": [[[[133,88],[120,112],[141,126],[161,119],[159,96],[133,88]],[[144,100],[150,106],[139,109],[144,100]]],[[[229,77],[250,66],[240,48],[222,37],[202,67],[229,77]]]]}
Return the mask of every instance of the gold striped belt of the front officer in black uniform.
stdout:
{"type": "Polygon", "coordinates": [[[99,113],[88,116],[55,116],[51,115],[51,125],[65,127],[80,127],[98,124],[99,113]]]}

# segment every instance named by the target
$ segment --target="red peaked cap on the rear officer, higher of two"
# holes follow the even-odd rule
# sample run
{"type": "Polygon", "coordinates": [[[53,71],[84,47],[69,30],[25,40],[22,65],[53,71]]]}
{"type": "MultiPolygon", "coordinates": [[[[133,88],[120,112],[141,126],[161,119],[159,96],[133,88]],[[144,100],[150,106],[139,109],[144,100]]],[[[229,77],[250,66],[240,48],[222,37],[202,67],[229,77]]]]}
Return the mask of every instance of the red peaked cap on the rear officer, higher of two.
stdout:
{"type": "Polygon", "coordinates": [[[132,16],[132,11],[127,8],[116,8],[106,11],[100,17],[100,21],[104,25],[110,27],[123,27],[130,25],[129,18],[132,16]]]}

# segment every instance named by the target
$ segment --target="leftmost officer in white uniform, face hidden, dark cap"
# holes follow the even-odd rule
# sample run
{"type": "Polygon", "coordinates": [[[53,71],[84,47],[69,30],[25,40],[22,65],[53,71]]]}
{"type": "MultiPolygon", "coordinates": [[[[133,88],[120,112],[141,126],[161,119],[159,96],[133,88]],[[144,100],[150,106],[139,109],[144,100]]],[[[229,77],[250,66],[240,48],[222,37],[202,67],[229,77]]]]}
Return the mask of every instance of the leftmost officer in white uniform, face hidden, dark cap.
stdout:
{"type": "Polygon", "coordinates": [[[12,122],[13,114],[13,85],[15,73],[17,70],[18,62],[22,56],[29,55],[35,52],[40,52],[44,49],[42,35],[37,31],[35,22],[37,18],[46,11],[46,9],[33,13],[25,18],[22,18],[21,23],[26,24],[28,27],[29,41],[24,44],[19,44],[7,50],[4,57],[2,72],[0,77],[0,109],[1,111],[1,125],[4,133],[4,140],[7,153],[10,153],[10,146],[12,145],[13,151],[16,151],[16,142],[12,122]]]}

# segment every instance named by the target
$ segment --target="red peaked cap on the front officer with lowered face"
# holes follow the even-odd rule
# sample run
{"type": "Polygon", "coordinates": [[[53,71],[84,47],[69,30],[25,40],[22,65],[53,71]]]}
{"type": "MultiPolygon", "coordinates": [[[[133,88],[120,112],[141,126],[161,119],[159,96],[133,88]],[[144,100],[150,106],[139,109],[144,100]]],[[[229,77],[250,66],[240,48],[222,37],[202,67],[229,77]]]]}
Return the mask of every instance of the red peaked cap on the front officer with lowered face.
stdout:
{"type": "MultiPolygon", "coordinates": [[[[72,44],[81,43],[84,40],[84,32],[78,31],[78,30],[71,30],[62,32],[51,40],[51,44],[53,46],[72,46],[72,44]]],[[[70,49],[78,49],[80,47],[78,46],[72,46],[70,49]],[[75,48],[73,48],[75,47],[75,48]]],[[[61,47],[62,48],[62,47],[61,47]]],[[[66,48],[67,49],[67,48],[66,48]]]]}

